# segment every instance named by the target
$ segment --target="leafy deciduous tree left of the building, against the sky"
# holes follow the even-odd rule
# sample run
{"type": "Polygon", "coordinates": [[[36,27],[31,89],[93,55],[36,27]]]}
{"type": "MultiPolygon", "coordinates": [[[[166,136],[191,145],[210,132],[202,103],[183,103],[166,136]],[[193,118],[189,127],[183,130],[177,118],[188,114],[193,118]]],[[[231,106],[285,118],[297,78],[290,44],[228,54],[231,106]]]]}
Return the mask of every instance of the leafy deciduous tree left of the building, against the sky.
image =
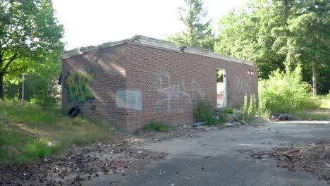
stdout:
{"type": "Polygon", "coordinates": [[[2,0],[0,4],[0,99],[4,77],[31,70],[45,56],[60,56],[63,26],[51,0],[2,0]]]}

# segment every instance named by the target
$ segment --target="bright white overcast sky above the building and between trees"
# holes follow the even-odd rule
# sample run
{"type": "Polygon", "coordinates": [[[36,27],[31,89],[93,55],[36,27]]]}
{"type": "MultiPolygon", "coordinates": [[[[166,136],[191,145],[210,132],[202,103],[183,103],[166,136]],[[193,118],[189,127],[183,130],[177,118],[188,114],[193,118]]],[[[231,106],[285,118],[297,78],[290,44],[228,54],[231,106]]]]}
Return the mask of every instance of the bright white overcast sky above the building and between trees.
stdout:
{"type": "MultiPolygon", "coordinates": [[[[247,0],[204,0],[207,18],[216,23],[247,0]]],[[[184,0],[53,0],[64,26],[66,50],[144,35],[157,39],[184,29],[178,7],[184,0]]]]}

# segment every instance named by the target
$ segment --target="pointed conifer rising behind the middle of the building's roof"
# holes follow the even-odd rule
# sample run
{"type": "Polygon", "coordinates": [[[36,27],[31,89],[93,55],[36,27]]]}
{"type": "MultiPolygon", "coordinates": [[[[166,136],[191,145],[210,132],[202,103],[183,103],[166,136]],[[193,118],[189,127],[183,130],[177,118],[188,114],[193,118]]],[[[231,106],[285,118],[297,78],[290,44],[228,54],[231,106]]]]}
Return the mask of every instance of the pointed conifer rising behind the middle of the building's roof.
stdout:
{"type": "Polygon", "coordinates": [[[181,22],[186,30],[169,37],[169,41],[177,44],[196,46],[213,51],[214,34],[212,32],[211,20],[202,23],[207,16],[202,0],[185,0],[187,8],[178,8],[181,22]]]}

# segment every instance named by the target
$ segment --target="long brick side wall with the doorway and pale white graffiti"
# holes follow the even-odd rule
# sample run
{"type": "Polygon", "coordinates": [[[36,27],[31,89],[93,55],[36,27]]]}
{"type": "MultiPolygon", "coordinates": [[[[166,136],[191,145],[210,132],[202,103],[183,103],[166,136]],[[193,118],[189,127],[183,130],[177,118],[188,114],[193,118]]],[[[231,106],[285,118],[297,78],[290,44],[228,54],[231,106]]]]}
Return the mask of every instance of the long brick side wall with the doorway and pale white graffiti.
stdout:
{"type": "Polygon", "coordinates": [[[128,110],[130,128],[149,120],[166,123],[193,122],[192,105],[198,98],[216,106],[216,68],[227,70],[228,106],[243,103],[243,96],[257,96],[257,68],[217,58],[126,44],[126,88],[142,90],[142,110],[128,110]],[[247,75],[253,70],[255,75],[247,75]],[[248,85],[246,85],[248,83],[248,85]],[[243,86],[243,87],[242,87],[243,86]]]}

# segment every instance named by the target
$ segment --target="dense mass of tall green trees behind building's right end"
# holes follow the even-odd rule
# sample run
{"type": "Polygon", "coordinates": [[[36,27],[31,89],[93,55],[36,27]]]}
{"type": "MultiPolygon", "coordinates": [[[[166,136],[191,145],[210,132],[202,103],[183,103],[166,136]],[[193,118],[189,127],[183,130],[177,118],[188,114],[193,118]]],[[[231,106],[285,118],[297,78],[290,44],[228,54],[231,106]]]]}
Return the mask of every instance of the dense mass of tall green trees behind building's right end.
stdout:
{"type": "Polygon", "coordinates": [[[326,93],[329,19],[329,1],[251,0],[221,18],[215,51],[254,61],[263,79],[277,68],[285,71],[286,63],[291,70],[300,64],[302,80],[314,85],[314,94],[317,82],[326,93]]]}

